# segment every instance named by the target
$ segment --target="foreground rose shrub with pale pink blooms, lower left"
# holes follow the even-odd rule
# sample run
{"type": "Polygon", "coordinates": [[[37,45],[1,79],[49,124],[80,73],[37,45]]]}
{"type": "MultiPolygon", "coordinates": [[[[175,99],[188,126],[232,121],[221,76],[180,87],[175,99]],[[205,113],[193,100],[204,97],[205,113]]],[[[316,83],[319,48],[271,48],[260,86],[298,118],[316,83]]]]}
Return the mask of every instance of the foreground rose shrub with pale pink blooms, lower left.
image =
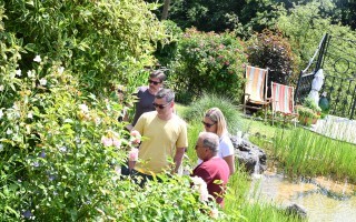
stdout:
{"type": "Polygon", "coordinates": [[[199,202],[189,179],[164,176],[166,183],[144,190],[119,180],[116,167],[131,143],[117,121],[123,108],[116,94],[87,94],[58,62],[36,61],[36,69],[22,70],[19,97],[1,108],[1,219],[209,219],[216,205],[199,202]]]}

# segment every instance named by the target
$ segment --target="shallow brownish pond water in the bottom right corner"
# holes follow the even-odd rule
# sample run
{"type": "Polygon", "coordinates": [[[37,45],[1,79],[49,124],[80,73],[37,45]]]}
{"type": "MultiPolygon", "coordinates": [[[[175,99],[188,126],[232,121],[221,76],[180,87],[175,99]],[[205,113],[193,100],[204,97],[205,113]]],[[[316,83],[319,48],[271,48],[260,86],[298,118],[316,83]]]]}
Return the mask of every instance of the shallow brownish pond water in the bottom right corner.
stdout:
{"type": "Polygon", "coordinates": [[[291,182],[281,174],[267,172],[254,176],[258,200],[273,201],[283,208],[301,205],[312,222],[355,222],[356,189],[347,182],[337,183],[326,178],[291,182]]]}

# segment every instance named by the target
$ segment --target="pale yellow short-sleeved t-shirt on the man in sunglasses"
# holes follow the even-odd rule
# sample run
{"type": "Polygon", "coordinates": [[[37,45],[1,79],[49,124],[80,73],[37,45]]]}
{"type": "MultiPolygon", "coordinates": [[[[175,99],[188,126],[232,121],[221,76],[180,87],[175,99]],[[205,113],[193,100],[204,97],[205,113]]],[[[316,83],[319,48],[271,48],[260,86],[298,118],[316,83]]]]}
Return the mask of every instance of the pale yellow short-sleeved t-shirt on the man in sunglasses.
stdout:
{"type": "Polygon", "coordinates": [[[157,111],[144,113],[134,130],[147,138],[142,141],[135,170],[151,174],[169,170],[168,159],[174,161],[176,148],[187,148],[187,125],[184,120],[174,114],[169,120],[161,120],[157,111]]]}

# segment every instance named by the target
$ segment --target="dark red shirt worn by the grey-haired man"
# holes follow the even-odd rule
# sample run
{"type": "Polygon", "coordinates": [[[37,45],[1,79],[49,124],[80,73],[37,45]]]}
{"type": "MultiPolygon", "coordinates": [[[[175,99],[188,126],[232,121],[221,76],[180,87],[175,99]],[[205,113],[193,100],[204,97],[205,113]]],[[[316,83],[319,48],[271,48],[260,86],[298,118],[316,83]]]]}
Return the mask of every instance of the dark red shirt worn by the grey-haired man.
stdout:
{"type": "Polygon", "coordinates": [[[192,176],[200,176],[207,183],[209,194],[212,195],[221,206],[224,206],[222,195],[229,174],[230,170],[228,164],[218,157],[204,161],[192,171],[192,176]]]}

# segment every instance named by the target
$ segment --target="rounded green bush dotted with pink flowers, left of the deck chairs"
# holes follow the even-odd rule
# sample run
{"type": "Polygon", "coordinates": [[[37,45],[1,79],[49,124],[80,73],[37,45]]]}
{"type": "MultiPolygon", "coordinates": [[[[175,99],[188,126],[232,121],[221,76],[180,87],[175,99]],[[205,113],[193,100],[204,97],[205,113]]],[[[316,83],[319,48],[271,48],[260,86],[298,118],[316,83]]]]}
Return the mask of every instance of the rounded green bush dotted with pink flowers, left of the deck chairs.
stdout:
{"type": "Polygon", "coordinates": [[[233,33],[187,30],[179,42],[178,58],[171,64],[170,81],[177,100],[188,103],[207,91],[239,102],[245,62],[243,44],[233,33]]]}

